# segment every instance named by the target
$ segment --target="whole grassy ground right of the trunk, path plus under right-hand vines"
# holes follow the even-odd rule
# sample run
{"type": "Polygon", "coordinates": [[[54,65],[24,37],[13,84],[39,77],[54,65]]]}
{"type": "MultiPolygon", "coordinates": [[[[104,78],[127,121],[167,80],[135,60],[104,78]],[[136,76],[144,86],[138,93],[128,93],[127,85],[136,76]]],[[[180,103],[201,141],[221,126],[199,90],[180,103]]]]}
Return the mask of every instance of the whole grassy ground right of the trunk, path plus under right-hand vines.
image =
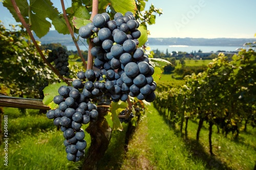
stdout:
{"type": "Polygon", "coordinates": [[[239,139],[225,138],[214,127],[212,144],[215,156],[208,149],[208,124],[204,124],[199,142],[198,123],[188,122],[188,136],[180,136],[154,106],[149,106],[140,122],[121,169],[253,169],[256,161],[256,129],[241,132],[239,139]]]}

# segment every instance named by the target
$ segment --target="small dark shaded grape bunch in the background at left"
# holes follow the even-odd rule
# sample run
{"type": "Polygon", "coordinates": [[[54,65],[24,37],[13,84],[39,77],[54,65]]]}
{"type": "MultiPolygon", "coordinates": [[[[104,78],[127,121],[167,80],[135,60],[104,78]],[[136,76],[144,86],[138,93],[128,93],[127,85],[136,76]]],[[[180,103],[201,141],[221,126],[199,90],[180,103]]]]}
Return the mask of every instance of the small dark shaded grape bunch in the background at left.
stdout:
{"type": "Polygon", "coordinates": [[[58,47],[57,50],[50,52],[47,61],[54,62],[55,68],[59,70],[61,76],[70,76],[69,72],[69,55],[63,47],[58,47]]]}

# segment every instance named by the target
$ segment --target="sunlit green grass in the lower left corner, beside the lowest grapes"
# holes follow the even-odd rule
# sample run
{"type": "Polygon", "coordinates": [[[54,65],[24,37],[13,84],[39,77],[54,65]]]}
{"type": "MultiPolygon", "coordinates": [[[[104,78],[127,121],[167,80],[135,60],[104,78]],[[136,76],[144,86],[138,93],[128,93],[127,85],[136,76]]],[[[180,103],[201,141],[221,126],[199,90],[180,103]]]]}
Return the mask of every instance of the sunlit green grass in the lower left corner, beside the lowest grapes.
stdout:
{"type": "Polygon", "coordinates": [[[81,162],[67,160],[63,139],[62,132],[56,130],[24,135],[18,141],[9,138],[8,166],[1,163],[0,169],[79,169],[81,162]]]}

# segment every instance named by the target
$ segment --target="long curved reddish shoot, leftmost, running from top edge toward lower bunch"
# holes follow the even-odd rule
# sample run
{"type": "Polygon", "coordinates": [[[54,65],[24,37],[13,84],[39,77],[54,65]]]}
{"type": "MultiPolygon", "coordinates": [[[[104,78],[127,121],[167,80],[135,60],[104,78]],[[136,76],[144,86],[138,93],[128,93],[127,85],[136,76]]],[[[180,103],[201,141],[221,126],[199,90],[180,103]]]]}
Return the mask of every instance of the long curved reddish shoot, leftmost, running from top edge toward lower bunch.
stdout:
{"type": "Polygon", "coordinates": [[[63,77],[59,74],[58,70],[56,68],[54,68],[51,63],[49,63],[47,60],[46,60],[46,57],[44,54],[42,54],[42,51],[40,49],[40,47],[38,46],[38,44],[36,43],[36,40],[30,30],[30,26],[28,25],[28,23],[25,21],[25,19],[23,18],[22,14],[20,13],[19,11],[19,8],[16,4],[16,1],[15,0],[11,0],[11,3],[12,3],[12,6],[16,12],[16,14],[18,15],[18,18],[20,20],[20,22],[22,22],[22,25],[25,27],[27,33],[29,34],[29,37],[31,38],[32,42],[34,43],[35,47],[36,47],[36,50],[38,51],[38,53],[40,54],[42,60],[44,60],[44,62],[53,70],[53,72],[59,77],[59,79],[65,81],[69,86],[71,86],[70,82],[68,80],[64,80],[63,77]]]}

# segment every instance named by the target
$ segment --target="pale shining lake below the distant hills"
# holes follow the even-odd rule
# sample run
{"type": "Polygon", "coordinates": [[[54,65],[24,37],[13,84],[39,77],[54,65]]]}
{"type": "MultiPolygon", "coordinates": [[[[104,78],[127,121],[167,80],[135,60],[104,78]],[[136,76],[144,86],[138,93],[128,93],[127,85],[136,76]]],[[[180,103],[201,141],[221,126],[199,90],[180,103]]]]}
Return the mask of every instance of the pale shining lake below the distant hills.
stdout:
{"type": "MultiPolygon", "coordinates": [[[[237,48],[241,48],[243,46],[188,46],[188,45],[148,45],[151,47],[151,50],[159,50],[160,52],[166,53],[166,49],[168,49],[168,53],[172,53],[173,51],[178,52],[198,52],[201,50],[202,52],[217,52],[218,50],[226,51],[226,52],[234,52],[237,48]]],[[[86,51],[88,50],[88,45],[82,46],[80,45],[80,50],[86,51]]],[[[75,45],[67,45],[68,50],[76,51],[75,45]]]]}

